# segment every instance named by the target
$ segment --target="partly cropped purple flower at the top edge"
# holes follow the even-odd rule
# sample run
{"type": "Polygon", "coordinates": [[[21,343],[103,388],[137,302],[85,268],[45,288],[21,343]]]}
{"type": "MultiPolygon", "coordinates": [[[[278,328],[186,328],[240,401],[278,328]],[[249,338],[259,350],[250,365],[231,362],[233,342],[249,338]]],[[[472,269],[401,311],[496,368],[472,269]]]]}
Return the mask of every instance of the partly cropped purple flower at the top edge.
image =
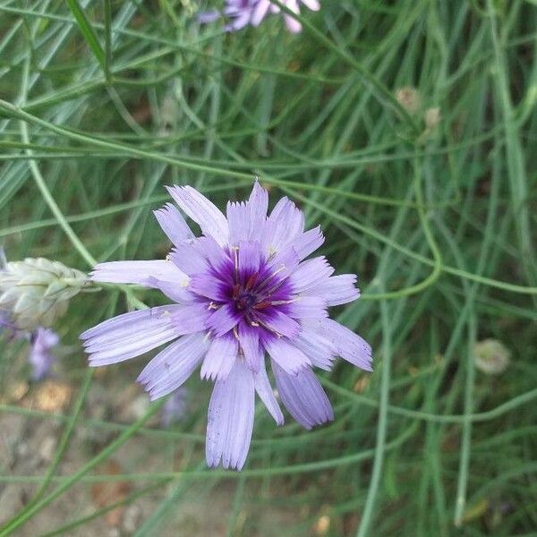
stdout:
{"type": "MultiPolygon", "coordinates": [[[[320,9],[318,0],[282,0],[282,4],[297,14],[300,13],[300,2],[313,11],[319,11],[320,9]]],[[[198,15],[198,21],[205,24],[207,22],[217,21],[217,19],[224,15],[230,20],[226,24],[226,31],[234,31],[241,30],[248,24],[257,27],[268,13],[279,12],[279,6],[270,2],[270,0],[226,0],[226,7],[222,13],[217,10],[202,12],[198,15]]],[[[284,19],[289,31],[296,33],[302,30],[301,23],[290,15],[285,13],[284,19]]]]}

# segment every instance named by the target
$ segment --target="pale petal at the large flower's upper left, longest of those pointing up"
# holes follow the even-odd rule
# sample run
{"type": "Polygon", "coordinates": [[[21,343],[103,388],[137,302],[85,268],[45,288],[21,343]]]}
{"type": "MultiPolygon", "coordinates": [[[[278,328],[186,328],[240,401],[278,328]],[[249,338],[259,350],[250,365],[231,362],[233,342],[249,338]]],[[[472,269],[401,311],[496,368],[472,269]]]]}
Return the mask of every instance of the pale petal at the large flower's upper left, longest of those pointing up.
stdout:
{"type": "Polygon", "coordinates": [[[227,243],[226,217],[214,203],[192,186],[171,186],[167,191],[184,213],[200,226],[203,234],[213,237],[220,246],[227,243]]]}

